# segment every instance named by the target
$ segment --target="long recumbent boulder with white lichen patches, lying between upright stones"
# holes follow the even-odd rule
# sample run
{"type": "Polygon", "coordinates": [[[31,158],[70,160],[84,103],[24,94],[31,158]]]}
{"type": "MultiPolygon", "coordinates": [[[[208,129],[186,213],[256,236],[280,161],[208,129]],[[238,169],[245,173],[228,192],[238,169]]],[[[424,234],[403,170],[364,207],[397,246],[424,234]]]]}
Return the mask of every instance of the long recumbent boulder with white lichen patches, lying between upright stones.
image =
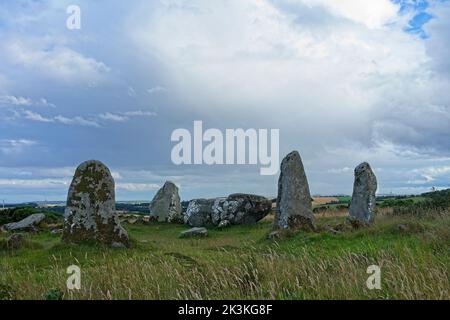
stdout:
{"type": "Polygon", "coordinates": [[[272,203],[265,197],[236,193],[227,198],[192,200],[184,218],[193,227],[213,224],[222,228],[235,224],[254,224],[271,210],[272,203]]]}

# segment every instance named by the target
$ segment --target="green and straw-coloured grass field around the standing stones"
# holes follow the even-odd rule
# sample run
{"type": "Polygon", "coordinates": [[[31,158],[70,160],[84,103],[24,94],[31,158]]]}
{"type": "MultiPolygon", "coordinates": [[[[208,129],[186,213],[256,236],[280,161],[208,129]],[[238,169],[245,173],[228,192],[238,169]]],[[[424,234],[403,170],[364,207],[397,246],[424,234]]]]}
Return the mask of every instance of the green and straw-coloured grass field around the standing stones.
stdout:
{"type": "Polygon", "coordinates": [[[30,234],[24,248],[0,252],[0,298],[60,291],[64,299],[450,299],[448,212],[386,214],[367,229],[327,231],[343,221],[321,216],[318,232],[278,242],[266,240],[270,219],[210,229],[205,239],[179,238],[182,225],[126,225],[131,249],[30,234]],[[66,289],[72,264],[82,272],[78,291],[66,289]],[[372,264],[381,267],[381,290],[366,287],[372,264]]]}

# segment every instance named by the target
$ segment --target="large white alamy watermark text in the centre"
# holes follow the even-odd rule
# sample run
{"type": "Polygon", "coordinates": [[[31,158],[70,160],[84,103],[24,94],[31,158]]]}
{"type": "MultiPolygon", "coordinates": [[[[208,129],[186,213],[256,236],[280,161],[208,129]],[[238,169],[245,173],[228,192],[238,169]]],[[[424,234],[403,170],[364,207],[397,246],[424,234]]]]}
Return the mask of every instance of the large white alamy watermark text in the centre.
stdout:
{"type": "Polygon", "coordinates": [[[279,140],[279,129],[226,129],[223,134],[215,128],[203,131],[203,122],[194,121],[193,134],[188,129],[172,132],[171,141],[178,143],[172,148],[171,159],[176,165],[259,164],[261,175],[275,175],[280,162],[279,140]]]}

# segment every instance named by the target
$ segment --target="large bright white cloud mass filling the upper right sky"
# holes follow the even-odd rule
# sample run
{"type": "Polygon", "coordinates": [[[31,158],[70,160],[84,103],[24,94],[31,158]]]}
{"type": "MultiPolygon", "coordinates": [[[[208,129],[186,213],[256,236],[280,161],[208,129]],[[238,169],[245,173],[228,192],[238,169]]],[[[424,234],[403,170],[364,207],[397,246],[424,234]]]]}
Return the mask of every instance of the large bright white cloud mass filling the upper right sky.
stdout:
{"type": "MultiPolygon", "coordinates": [[[[165,64],[171,91],[187,107],[205,118],[220,112],[224,123],[238,113],[295,132],[300,140],[286,146],[313,144],[311,136],[325,145],[353,139],[368,147],[449,137],[450,84],[431,72],[423,39],[404,31],[398,5],[285,2],[289,10],[278,6],[283,1],[198,0],[189,8],[180,1],[156,6],[151,19],[141,7],[128,32],[137,50],[165,64]],[[318,14],[319,22],[297,18],[296,10],[318,14]]],[[[445,138],[434,144],[443,148],[445,138]]]]}

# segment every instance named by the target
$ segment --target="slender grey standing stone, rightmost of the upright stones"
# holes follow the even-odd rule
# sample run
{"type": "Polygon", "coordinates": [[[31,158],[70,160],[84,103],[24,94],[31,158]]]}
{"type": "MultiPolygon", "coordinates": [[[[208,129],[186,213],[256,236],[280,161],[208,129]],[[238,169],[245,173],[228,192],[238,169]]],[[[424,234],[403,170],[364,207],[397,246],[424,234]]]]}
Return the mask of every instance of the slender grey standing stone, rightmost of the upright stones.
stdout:
{"type": "Polygon", "coordinates": [[[350,203],[350,221],[370,224],[375,218],[377,178],[367,162],[355,168],[355,183],[350,203]]]}

